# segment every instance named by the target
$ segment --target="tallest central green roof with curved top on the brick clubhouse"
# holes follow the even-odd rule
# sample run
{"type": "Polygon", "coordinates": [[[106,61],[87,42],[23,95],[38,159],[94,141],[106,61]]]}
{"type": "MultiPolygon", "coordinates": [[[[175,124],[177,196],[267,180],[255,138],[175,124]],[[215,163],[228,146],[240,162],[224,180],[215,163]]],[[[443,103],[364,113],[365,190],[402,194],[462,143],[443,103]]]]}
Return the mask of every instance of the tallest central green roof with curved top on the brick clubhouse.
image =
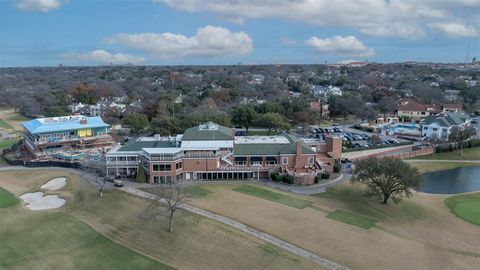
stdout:
{"type": "Polygon", "coordinates": [[[182,141],[233,140],[232,129],[207,122],[185,130],[182,141]]]}

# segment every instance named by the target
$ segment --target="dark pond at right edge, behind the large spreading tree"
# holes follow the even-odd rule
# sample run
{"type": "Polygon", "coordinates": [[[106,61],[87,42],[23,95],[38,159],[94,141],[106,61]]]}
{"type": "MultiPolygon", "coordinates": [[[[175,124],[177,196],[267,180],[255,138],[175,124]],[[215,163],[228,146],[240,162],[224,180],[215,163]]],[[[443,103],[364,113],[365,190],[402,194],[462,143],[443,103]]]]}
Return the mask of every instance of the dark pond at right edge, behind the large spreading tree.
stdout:
{"type": "Polygon", "coordinates": [[[480,167],[462,167],[423,174],[419,191],[433,194],[480,191],[480,167]]]}

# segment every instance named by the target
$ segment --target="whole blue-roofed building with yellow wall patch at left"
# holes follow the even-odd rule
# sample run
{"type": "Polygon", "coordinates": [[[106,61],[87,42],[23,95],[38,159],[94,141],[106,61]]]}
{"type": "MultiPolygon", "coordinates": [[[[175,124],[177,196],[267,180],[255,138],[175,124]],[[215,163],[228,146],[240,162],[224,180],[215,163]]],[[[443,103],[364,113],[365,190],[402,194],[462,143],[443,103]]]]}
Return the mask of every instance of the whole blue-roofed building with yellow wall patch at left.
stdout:
{"type": "Polygon", "coordinates": [[[25,146],[34,156],[112,144],[110,125],[101,117],[82,115],[37,118],[23,122],[25,146]]]}

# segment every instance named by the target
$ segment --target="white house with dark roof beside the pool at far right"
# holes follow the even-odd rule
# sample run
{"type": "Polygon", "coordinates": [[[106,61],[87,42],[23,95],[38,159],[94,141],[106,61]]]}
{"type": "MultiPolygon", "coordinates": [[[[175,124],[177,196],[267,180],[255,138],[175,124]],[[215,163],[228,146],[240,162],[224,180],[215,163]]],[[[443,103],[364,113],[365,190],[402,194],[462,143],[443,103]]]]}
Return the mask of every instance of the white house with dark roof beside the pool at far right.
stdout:
{"type": "Polygon", "coordinates": [[[431,115],[420,122],[422,137],[424,139],[437,136],[439,140],[448,140],[448,135],[453,127],[466,127],[469,123],[468,116],[463,113],[446,112],[443,115],[431,115]],[[434,135],[436,134],[436,135],[434,135]]]}

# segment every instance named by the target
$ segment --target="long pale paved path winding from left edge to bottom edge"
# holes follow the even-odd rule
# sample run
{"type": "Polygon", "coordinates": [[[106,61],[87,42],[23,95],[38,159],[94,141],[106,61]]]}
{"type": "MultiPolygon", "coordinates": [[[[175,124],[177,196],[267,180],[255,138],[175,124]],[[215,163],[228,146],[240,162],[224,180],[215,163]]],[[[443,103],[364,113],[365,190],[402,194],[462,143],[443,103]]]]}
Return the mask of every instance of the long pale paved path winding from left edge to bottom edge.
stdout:
{"type": "MultiPolygon", "coordinates": [[[[55,167],[55,168],[26,168],[26,167],[22,167],[22,166],[10,166],[10,167],[2,167],[2,168],[0,168],[0,171],[28,171],[28,170],[52,170],[52,169],[68,171],[68,172],[80,175],[84,179],[86,179],[88,182],[90,182],[93,186],[95,186],[96,188],[99,188],[100,183],[95,180],[95,175],[94,174],[86,173],[86,172],[79,171],[79,170],[76,170],[76,169],[59,168],[59,167],[55,167]]],[[[341,178],[343,179],[343,176],[341,178]]],[[[341,179],[339,179],[338,181],[340,181],[340,180],[341,179]]],[[[107,188],[107,186],[109,188],[113,187],[113,185],[111,185],[111,183],[108,183],[108,182],[107,182],[107,185],[106,185],[105,188],[107,188]]],[[[158,187],[158,185],[157,185],[157,187],[158,187]]],[[[123,188],[118,188],[118,190],[124,191],[126,193],[129,193],[129,194],[141,197],[141,198],[145,198],[145,199],[149,199],[149,200],[159,200],[160,202],[165,203],[165,200],[161,199],[159,196],[147,193],[145,191],[141,191],[137,188],[125,186],[123,188]]],[[[200,209],[200,208],[188,205],[188,204],[181,205],[181,208],[186,210],[186,211],[189,211],[191,213],[194,213],[194,214],[197,214],[197,215],[215,220],[217,222],[223,223],[225,225],[231,226],[231,227],[236,228],[236,229],[238,229],[238,230],[240,230],[244,233],[252,235],[256,238],[262,239],[263,241],[266,241],[266,242],[268,242],[268,243],[270,243],[270,244],[272,244],[272,245],[274,245],[278,248],[281,248],[281,249],[283,249],[287,252],[293,253],[293,254],[295,254],[297,256],[300,256],[302,258],[305,258],[307,260],[316,262],[319,265],[321,265],[322,267],[324,267],[325,269],[329,269],[329,270],[350,270],[350,268],[348,268],[348,267],[345,267],[345,266],[340,265],[336,262],[330,261],[329,259],[323,258],[323,257],[321,257],[321,256],[319,256],[315,253],[312,253],[308,250],[297,247],[297,246],[295,246],[293,244],[290,244],[286,241],[283,241],[283,240],[281,240],[281,239],[279,239],[279,238],[277,238],[273,235],[264,233],[262,231],[254,229],[250,226],[247,226],[247,225],[245,225],[243,223],[240,223],[238,221],[235,221],[233,219],[230,219],[230,218],[227,218],[227,217],[224,217],[224,216],[221,216],[221,215],[217,215],[217,214],[214,214],[212,212],[209,212],[209,211],[206,211],[206,210],[203,210],[203,209],[200,209]]]]}

